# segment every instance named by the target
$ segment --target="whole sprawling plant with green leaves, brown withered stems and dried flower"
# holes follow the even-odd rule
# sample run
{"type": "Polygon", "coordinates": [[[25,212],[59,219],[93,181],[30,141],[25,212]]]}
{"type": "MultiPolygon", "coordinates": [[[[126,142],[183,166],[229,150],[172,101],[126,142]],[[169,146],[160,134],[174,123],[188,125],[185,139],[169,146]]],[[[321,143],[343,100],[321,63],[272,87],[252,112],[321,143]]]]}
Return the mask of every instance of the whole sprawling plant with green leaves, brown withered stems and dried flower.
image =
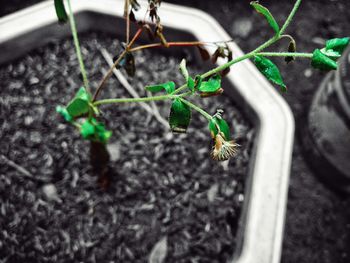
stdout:
{"type": "MultiPolygon", "coordinates": [[[[281,92],[286,92],[287,87],[283,81],[278,67],[269,59],[269,57],[282,57],[287,63],[294,61],[296,58],[309,59],[311,66],[320,70],[337,69],[337,60],[342,55],[345,47],[349,44],[350,38],[334,38],[326,42],[325,47],[315,49],[312,53],[297,52],[295,39],[285,34],[288,25],[294,18],[298,10],[301,0],[296,0],[293,9],[288,15],[285,22],[280,26],[275,20],[271,12],[258,3],[251,2],[250,5],[261,14],[269,26],[272,28],[273,35],[266,42],[255,48],[247,54],[233,58],[227,43],[222,42],[172,42],[166,38],[165,29],[161,24],[161,18],[158,15],[158,9],[161,6],[161,0],[148,0],[147,14],[152,22],[138,21],[135,18],[135,12],[140,9],[137,0],[125,0],[124,17],[126,20],[126,40],[123,50],[114,58],[114,64],[103,77],[98,87],[90,87],[85,71],[83,57],[80,51],[79,39],[76,30],[74,14],[71,8],[70,0],[55,0],[55,8],[60,23],[69,22],[73,35],[74,45],[77,58],[79,61],[80,71],[83,79],[82,87],[79,88],[77,94],[67,104],[67,106],[58,106],[59,112],[63,118],[74,125],[82,137],[89,140],[92,148],[96,145],[100,149],[105,149],[105,145],[112,132],[106,130],[105,126],[99,120],[100,107],[108,104],[128,103],[128,102],[151,102],[168,100],[170,103],[169,127],[174,133],[185,133],[191,123],[192,111],[196,111],[203,115],[208,121],[209,134],[211,135],[214,146],[212,157],[218,161],[224,161],[233,157],[237,153],[237,144],[231,139],[230,127],[223,118],[223,110],[217,110],[215,113],[208,113],[199,105],[191,102],[193,97],[212,97],[223,93],[221,79],[229,73],[230,67],[246,59],[252,59],[260,72],[273,84],[280,87],[281,92]],[[66,12],[66,7],[68,13],[66,12]],[[131,37],[131,24],[137,26],[136,33],[131,37]],[[146,32],[152,41],[149,44],[137,45],[136,41],[142,32],[146,32]],[[289,39],[289,45],[286,52],[265,52],[264,50],[272,46],[281,39],[289,39]],[[215,46],[216,51],[210,55],[206,46],[215,46]],[[203,60],[209,60],[215,63],[218,58],[226,59],[227,62],[221,66],[196,76],[191,76],[187,70],[186,61],[183,59],[179,65],[179,71],[183,76],[183,85],[176,84],[169,80],[165,83],[146,86],[145,89],[153,96],[140,98],[108,98],[99,99],[105,84],[112,76],[113,69],[119,68],[125,70],[130,77],[134,76],[137,70],[134,56],[137,51],[151,48],[171,48],[173,46],[195,47],[198,49],[203,60]],[[94,92],[92,92],[94,90],[94,92]]],[[[234,74],[232,72],[231,74],[234,74]]],[[[93,152],[93,151],[92,151],[93,152]]],[[[105,151],[106,152],[106,151],[105,151]]],[[[94,159],[92,153],[92,159],[94,159]]],[[[108,154],[107,154],[108,155],[108,154]]],[[[96,156],[96,154],[95,154],[96,156]]],[[[105,158],[108,161],[108,158],[105,158]]]]}

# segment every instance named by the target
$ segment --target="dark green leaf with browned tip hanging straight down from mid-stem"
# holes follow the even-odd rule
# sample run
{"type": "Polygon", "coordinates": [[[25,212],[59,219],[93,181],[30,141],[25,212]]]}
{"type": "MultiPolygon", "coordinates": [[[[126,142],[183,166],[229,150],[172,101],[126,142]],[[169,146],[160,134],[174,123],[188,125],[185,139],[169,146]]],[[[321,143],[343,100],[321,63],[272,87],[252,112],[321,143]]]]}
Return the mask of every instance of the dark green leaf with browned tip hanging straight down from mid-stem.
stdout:
{"type": "Polygon", "coordinates": [[[180,99],[173,100],[169,115],[172,132],[185,133],[191,122],[191,109],[180,99]]]}

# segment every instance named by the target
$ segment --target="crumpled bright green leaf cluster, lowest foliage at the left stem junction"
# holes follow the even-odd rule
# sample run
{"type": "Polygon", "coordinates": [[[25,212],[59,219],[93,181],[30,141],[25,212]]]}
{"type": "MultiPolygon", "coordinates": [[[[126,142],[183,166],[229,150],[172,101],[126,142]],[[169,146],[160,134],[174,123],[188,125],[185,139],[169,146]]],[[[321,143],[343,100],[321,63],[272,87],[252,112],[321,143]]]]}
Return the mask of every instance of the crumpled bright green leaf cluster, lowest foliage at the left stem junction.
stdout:
{"type": "Polygon", "coordinates": [[[81,125],[80,133],[84,139],[106,143],[112,136],[111,131],[107,131],[102,123],[95,118],[87,119],[81,125]]]}

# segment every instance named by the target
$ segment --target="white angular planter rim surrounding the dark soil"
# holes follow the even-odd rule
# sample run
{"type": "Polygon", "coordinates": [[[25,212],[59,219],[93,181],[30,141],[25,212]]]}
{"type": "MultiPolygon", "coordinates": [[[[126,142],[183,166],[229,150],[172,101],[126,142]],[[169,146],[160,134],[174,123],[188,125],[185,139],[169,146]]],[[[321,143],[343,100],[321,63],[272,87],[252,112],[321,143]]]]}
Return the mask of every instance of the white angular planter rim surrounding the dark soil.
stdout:
{"type": "MultiPolygon", "coordinates": [[[[99,14],[121,18],[123,15],[124,1],[121,0],[72,2],[74,12],[81,16],[79,30],[99,28],[115,31],[115,24],[111,26],[96,21],[94,16],[99,14]]],[[[200,41],[231,38],[211,16],[196,9],[162,3],[160,17],[168,30],[185,31],[200,41]]],[[[0,64],[43,45],[53,37],[62,37],[68,33],[67,27],[57,29],[53,1],[0,19],[0,64]]],[[[233,57],[243,55],[235,43],[228,45],[233,51],[233,57]]],[[[219,60],[219,64],[222,62],[219,60]]],[[[227,79],[234,88],[225,90],[226,94],[247,109],[258,128],[233,262],[278,263],[292,158],[293,116],[276,89],[249,60],[232,66],[227,79]]]]}

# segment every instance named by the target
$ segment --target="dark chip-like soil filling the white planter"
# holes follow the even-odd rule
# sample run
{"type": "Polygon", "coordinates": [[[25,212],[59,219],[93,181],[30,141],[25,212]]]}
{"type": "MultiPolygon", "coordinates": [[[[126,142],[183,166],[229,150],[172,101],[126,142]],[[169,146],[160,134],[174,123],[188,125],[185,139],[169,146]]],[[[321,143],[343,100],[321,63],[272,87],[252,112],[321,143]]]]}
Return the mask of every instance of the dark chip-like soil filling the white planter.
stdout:
{"type": "MultiPolygon", "coordinates": [[[[108,69],[98,50],[114,55],[118,42],[101,34],[81,42],[96,86],[108,69]]],[[[129,81],[141,96],[146,84],[182,81],[181,58],[150,52],[136,58],[129,81]]],[[[193,73],[203,70],[187,60],[193,73]]],[[[196,113],[187,134],[173,135],[137,104],[104,107],[114,174],[103,191],[91,176],[89,143],[55,112],[81,85],[72,42],[1,67],[0,83],[0,260],[145,262],[164,237],[166,262],[231,258],[254,130],[228,97],[199,101],[212,113],[225,109],[241,144],[237,158],[224,164],[209,158],[207,122],[196,113]]],[[[102,96],[129,97],[114,77],[102,96]]],[[[166,118],[169,102],[157,105],[166,118]]]]}

